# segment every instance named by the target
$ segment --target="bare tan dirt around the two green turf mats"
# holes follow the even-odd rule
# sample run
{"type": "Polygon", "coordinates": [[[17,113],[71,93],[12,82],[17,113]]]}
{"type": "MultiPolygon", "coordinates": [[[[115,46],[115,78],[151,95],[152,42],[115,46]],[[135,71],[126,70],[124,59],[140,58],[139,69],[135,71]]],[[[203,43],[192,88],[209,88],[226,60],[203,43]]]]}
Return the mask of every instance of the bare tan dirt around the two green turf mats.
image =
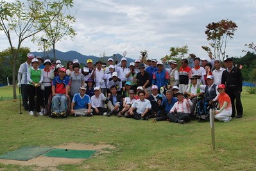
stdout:
{"type": "MultiPolygon", "coordinates": [[[[107,152],[103,149],[109,148],[114,149],[115,147],[112,145],[90,145],[90,144],[82,144],[82,143],[65,143],[62,145],[58,145],[55,148],[57,149],[72,149],[72,150],[89,150],[89,151],[98,151],[100,153],[107,152]]],[[[97,153],[98,153],[97,152],[97,153]]],[[[97,154],[96,153],[96,154],[97,154]]],[[[37,165],[39,167],[53,167],[61,164],[73,164],[77,165],[81,163],[84,159],[69,159],[69,158],[51,158],[51,157],[42,157],[38,156],[37,158],[30,159],[28,161],[19,161],[12,159],[0,159],[0,163],[4,165],[15,164],[15,165],[37,165]]]]}

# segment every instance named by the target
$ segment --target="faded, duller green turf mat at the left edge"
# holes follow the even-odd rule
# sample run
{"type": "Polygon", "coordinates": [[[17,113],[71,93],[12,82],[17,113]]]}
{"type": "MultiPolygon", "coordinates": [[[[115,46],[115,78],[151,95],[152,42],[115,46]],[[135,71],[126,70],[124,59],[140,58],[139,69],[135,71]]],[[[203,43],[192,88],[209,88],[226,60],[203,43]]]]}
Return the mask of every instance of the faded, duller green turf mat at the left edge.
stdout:
{"type": "Polygon", "coordinates": [[[52,147],[22,147],[19,150],[7,152],[0,156],[0,159],[15,159],[15,160],[29,160],[31,158],[36,158],[40,154],[44,154],[52,147]]]}

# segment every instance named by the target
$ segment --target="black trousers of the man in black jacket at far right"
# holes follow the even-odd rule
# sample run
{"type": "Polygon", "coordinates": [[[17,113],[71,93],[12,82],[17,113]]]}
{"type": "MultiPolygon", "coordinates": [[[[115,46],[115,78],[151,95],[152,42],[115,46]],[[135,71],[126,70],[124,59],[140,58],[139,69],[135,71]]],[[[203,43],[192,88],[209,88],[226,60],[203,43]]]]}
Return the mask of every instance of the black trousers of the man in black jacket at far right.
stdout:
{"type": "Polygon", "coordinates": [[[227,86],[226,94],[231,99],[232,104],[232,115],[231,117],[235,117],[235,108],[237,111],[237,115],[243,115],[243,106],[241,102],[241,93],[238,92],[237,86],[227,86]]]}

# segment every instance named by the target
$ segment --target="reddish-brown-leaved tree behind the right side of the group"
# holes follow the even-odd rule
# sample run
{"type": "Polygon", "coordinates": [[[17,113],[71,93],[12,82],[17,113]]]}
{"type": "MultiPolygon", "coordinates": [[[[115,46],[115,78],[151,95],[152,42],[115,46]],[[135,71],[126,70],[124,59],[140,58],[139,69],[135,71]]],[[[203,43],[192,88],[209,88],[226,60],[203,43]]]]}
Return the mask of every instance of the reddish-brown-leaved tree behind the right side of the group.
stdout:
{"type": "Polygon", "coordinates": [[[233,38],[234,32],[237,30],[237,24],[232,22],[232,20],[223,19],[219,22],[209,23],[206,28],[205,34],[207,35],[207,40],[211,41],[210,47],[204,45],[201,47],[215,58],[224,60],[226,56],[226,45],[228,44],[228,40],[233,38]],[[213,53],[211,48],[213,49],[213,53]]]}

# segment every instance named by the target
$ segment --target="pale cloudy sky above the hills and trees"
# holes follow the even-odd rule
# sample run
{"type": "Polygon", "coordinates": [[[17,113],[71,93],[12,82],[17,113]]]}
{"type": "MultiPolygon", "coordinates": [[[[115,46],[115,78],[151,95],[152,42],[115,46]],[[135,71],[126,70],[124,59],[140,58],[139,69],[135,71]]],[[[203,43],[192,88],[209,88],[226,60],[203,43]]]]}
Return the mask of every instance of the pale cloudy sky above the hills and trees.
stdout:
{"type": "MultiPolygon", "coordinates": [[[[255,42],[256,38],[256,0],[73,1],[71,13],[76,12],[73,26],[78,35],[73,40],[57,42],[58,51],[94,56],[126,51],[126,57],[137,59],[146,50],[149,58],[160,59],[170,54],[170,47],[187,45],[189,53],[209,59],[201,49],[201,45],[210,43],[205,26],[222,19],[232,20],[238,26],[234,38],[228,41],[228,56],[244,56],[243,50],[250,51],[244,44],[255,42]]],[[[0,38],[0,50],[10,47],[3,31],[0,38]]],[[[38,51],[30,40],[25,40],[22,46],[38,51]]]]}

